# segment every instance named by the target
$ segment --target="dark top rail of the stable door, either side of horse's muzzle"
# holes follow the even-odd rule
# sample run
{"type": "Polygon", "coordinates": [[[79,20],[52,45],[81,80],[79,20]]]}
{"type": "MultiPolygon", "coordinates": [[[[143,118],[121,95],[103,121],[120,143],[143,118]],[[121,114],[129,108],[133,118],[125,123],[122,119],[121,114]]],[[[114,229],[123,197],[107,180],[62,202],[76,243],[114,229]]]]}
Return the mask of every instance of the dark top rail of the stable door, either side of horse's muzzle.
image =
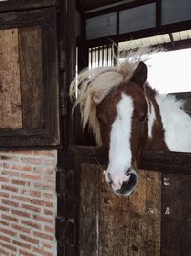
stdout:
{"type": "MultiPolygon", "coordinates": [[[[108,151],[103,147],[70,145],[69,153],[75,163],[77,161],[96,163],[96,159],[101,164],[108,162],[108,151]]],[[[138,168],[162,173],[191,175],[191,153],[144,151],[138,168]]]]}

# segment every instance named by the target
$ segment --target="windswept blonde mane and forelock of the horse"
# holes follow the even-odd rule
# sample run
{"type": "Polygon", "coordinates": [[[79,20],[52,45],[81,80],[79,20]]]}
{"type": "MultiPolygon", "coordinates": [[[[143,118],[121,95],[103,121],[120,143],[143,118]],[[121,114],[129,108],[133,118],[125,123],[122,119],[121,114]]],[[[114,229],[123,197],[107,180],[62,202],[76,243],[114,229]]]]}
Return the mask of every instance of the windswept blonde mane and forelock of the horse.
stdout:
{"type": "MultiPolygon", "coordinates": [[[[149,48],[130,52],[117,66],[96,67],[83,70],[70,85],[70,97],[75,98],[74,108],[79,105],[83,128],[88,123],[96,136],[97,145],[102,145],[99,122],[96,118],[98,105],[111,91],[117,90],[122,82],[128,82],[140,60],[151,54],[149,48]]],[[[156,50],[155,50],[156,52],[156,50]]]]}

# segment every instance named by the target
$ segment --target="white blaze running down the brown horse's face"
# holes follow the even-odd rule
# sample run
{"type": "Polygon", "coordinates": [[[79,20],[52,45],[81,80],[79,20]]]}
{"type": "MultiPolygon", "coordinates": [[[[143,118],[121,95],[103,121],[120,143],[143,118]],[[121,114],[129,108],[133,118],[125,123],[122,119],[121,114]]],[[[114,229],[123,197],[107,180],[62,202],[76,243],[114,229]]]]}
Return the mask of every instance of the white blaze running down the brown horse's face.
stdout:
{"type": "Polygon", "coordinates": [[[114,188],[120,188],[123,181],[128,180],[125,172],[131,167],[132,153],[130,149],[131,123],[133,114],[133,100],[122,93],[117,104],[117,117],[110,133],[109,165],[106,170],[114,182],[114,188]]]}

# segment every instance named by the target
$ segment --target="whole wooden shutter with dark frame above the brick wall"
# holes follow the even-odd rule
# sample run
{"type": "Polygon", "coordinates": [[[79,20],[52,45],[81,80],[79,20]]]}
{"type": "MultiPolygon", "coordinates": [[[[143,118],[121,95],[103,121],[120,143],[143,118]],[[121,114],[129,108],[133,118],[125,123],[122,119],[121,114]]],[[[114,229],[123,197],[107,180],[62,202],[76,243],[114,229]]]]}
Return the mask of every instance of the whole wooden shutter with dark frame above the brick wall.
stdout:
{"type": "Polygon", "coordinates": [[[56,18],[0,14],[0,148],[60,145],[56,18]]]}

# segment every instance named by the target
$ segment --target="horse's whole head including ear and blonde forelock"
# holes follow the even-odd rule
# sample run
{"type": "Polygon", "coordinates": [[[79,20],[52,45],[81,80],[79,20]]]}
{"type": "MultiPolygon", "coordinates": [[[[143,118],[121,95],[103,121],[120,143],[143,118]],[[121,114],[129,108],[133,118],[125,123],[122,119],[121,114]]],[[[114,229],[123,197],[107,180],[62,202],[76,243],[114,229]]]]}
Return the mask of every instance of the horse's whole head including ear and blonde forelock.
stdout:
{"type": "Polygon", "coordinates": [[[148,100],[144,92],[147,66],[125,61],[117,67],[86,69],[73,81],[82,121],[92,129],[97,145],[107,147],[105,180],[116,194],[129,195],[138,183],[137,165],[148,136],[148,100]]]}

